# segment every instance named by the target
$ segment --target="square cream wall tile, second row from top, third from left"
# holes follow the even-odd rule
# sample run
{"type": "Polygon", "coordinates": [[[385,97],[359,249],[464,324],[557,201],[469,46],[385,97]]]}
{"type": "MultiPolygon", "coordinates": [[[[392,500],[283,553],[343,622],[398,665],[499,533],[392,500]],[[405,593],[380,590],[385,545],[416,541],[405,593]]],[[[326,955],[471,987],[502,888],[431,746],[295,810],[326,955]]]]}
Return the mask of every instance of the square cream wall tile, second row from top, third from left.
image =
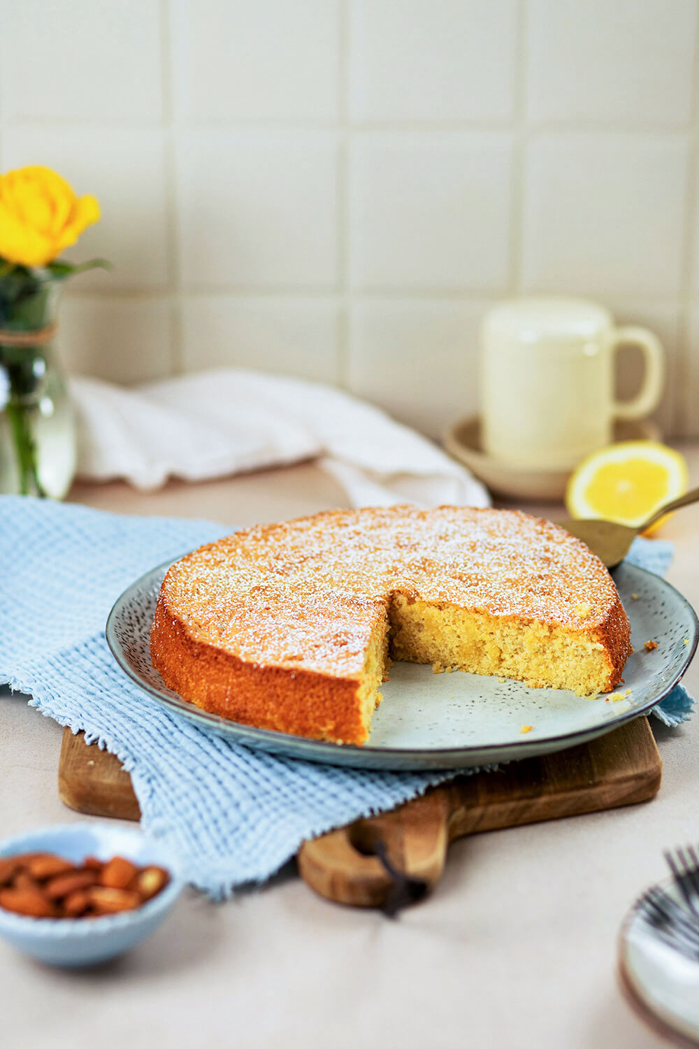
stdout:
{"type": "Polygon", "coordinates": [[[510,153],[500,134],[357,134],[349,167],[353,286],[506,290],[510,153]]]}

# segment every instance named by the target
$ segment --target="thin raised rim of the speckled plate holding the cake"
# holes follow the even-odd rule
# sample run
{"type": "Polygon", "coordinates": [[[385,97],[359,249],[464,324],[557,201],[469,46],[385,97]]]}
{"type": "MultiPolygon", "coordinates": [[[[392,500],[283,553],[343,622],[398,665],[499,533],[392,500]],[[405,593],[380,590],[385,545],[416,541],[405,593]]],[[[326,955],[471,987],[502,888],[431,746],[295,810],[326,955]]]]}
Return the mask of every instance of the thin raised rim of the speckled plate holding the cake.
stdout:
{"type": "Polygon", "coordinates": [[[406,762],[418,763],[413,766],[416,770],[424,769],[427,767],[431,769],[465,769],[484,764],[493,765],[503,761],[520,761],[521,758],[553,753],[556,750],[565,750],[569,747],[574,747],[578,744],[595,740],[600,735],[606,735],[608,732],[619,728],[627,722],[633,721],[635,718],[642,716],[653,707],[657,706],[658,703],[661,703],[662,700],[670,695],[675,686],[683,678],[699,645],[699,617],[684,595],[681,594],[676,586],[668,582],[668,580],[662,576],[658,576],[656,573],[650,572],[648,569],[643,569],[639,564],[634,564],[630,561],[626,565],[627,568],[631,568],[634,572],[640,572],[646,576],[651,576],[654,580],[659,582],[662,586],[668,587],[668,590],[680,599],[690,614],[693,627],[690,644],[686,647],[686,656],[679,670],[669,682],[663,684],[660,694],[655,697],[653,700],[647,701],[640,707],[634,707],[632,710],[622,711],[613,719],[610,719],[608,722],[593,728],[588,727],[572,732],[566,732],[563,735],[549,735],[536,740],[517,741],[515,743],[483,744],[478,747],[440,747],[420,750],[416,750],[413,747],[358,747],[356,744],[336,744],[327,740],[312,740],[308,736],[294,735],[290,732],[280,732],[277,729],[258,728],[255,725],[246,725],[243,722],[236,722],[226,718],[221,718],[220,714],[214,714],[207,710],[203,710],[200,707],[197,707],[194,703],[190,703],[182,698],[175,699],[173,697],[166,695],[163,692],[158,691],[158,689],[153,685],[143,681],[135,673],[135,671],[132,670],[129,663],[122,655],[121,646],[116,645],[113,640],[113,635],[115,633],[114,621],[116,616],[118,615],[118,612],[121,611],[121,607],[126,601],[128,595],[144,585],[149,577],[155,575],[161,570],[165,570],[167,573],[168,569],[182,556],[185,555],[180,554],[177,557],[169,558],[160,564],[154,565],[148,572],[143,573],[143,575],[133,580],[133,582],[131,582],[114,601],[114,604],[107,616],[105,636],[109,650],[111,651],[121,670],[133,684],[154,699],[157,703],[166,706],[169,710],[179,713],[189,722],[198,724],[202,728],[210,727],[211,731],[216,732],[218,735],[223,734],[230,738],[237,738],[237,742],[242,745],[265,750],[267,753],[285,753],[287,756],[296,756],[297,758],[302,758],[304,761],[316,761],[322,764],[367,768],[369,767],[366,761],[368,758],[369,762],[371,762],[371,767],[376,769],[385,768],[388,770],[391,768],[398,769],[398,767],[401,769],[408,769],[409,766],[405,764],[406,762]],[[289,753],[289,741],[293,741],[292,746],[298,746],[299,749],[303,750],[308,749],[311,753],[296,755],[289,753]],[[518,750],[517,758],[504,758],[502,756],[498,756],[498,754],[502,754],[502,751],[509,750],[512,747],[518,750]],[[343,754],[342,758],[340,758],[341,753],[343,754]],[[351,759],[348,759],[348,757],[351,758],[352,754],[356,755],[356,764],[353,764],[351,759]],[[340,759],[333,761],[331,755],[335,755],[335,758],[340,759]],[[458,761],[459,757],[467,759],[469,756],[473,757],[474,755],[480,755],[478,761],[475,763],[472,762],[471,764],[464,765],[463,763],[460,764],[458,761]],[[442,762],[444,763],[443,765],[440,764],[442,762]]]}

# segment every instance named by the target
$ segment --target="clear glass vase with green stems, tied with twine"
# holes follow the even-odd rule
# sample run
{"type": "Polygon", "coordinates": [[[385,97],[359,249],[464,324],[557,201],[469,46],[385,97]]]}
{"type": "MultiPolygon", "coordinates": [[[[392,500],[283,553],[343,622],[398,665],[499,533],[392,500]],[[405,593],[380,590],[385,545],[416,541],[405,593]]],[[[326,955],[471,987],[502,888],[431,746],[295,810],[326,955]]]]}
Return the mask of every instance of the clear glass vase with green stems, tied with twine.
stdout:
{"type": "Polygon", "coordinates": [[[75,428],[53,337],[59,288],[3,295],[0,279],[0,493],[62,499],[75,472],[75,428]]]}

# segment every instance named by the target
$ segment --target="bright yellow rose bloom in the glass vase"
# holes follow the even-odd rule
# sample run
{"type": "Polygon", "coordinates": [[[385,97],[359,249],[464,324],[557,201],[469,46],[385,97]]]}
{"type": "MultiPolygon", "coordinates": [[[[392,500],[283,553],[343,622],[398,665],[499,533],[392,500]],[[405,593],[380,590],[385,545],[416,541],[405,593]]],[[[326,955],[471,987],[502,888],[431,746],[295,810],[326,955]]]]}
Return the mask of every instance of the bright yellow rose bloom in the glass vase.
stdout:
{"type": "Polygon", "coordinates": [[[0,256],[19,265],[46,265],[100,219],[93,196],[77,197],[50,168],[0,175],[0,256]]]}

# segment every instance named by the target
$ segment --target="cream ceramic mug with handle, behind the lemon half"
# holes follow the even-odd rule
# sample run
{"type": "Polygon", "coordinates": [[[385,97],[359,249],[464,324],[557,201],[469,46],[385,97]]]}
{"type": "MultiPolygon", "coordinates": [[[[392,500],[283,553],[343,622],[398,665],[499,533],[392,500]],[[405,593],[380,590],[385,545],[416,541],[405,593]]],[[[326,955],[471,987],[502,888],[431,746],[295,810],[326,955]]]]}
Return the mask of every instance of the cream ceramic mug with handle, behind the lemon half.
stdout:
{"type": "Polygon", "coordinates": [[[585,299],[511,299],[492,309],[481,331],[481,440],[511,466],[567,470],[613,438],[615,419],[639,419],[658,405],[664,354],[652,331],[616,327],[585,299]],[[645,376],[637,395],[614,399],[615,351],[637,345],[645,376]]]}

